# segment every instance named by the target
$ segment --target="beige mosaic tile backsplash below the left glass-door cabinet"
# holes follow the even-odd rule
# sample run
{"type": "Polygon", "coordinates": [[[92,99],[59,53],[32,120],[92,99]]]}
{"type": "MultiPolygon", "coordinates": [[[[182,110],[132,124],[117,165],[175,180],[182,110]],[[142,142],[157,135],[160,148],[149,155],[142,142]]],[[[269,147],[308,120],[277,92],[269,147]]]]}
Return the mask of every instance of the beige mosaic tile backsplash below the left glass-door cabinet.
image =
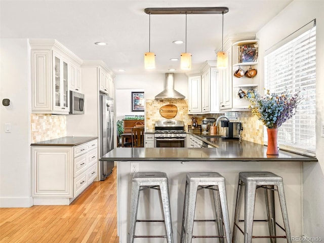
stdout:
{"type": "Polygon", "coordinates": [[[31,143],[66,136],[66,116],[52,114],[31,114],[31,143]]]}

